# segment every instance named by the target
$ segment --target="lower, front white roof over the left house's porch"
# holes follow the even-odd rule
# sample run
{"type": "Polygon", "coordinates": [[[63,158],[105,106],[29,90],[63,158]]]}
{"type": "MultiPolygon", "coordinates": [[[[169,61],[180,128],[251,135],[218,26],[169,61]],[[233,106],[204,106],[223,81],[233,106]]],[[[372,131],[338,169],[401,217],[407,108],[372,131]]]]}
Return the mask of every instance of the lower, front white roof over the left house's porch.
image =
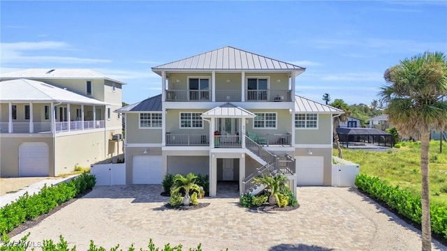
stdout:
{"type": "Polygon", "coordinates": [[[88,105],[108,105],[94,98],[61,89],[51,84],[30,79],[13,79],[0,82],[1,102],[68,102],[88,105]]]}

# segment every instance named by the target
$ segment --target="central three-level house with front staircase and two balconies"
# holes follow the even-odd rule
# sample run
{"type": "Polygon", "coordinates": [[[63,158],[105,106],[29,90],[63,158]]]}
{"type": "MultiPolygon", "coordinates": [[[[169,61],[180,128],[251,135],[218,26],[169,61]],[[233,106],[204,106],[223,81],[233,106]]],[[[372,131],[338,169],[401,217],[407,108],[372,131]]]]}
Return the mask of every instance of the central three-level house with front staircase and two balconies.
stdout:
{"type": "Polygon", "coordinates": [[[260,173],[331,185],[332,115],[343,111],[295,96],[305,68],[223,47],[152,70],[161,95],[116,111],[126,116],[126,183],[207,174],[211,196],[218,181],[253,190],[260,173]]]}

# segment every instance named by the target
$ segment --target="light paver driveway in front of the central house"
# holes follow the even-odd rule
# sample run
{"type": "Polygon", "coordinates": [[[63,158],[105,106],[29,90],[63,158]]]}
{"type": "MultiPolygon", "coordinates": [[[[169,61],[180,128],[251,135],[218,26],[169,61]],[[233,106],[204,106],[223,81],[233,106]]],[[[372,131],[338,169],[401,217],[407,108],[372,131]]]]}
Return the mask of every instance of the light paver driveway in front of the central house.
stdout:
{"type": "MultiPolygon", "coordinates": [[[[203,250],[420,250],[420,232],[351,188],[298,188],[300,208],[254,213],[238,198],[205,198],[210,206],[173,211],[161,185],[96,187],[31,232],[29,241],[64,236],[78,250],[89,240],[111,248],[182,243],[203,250]]],[[[433,250],[447,250],[434,241],[433,250]]]]}

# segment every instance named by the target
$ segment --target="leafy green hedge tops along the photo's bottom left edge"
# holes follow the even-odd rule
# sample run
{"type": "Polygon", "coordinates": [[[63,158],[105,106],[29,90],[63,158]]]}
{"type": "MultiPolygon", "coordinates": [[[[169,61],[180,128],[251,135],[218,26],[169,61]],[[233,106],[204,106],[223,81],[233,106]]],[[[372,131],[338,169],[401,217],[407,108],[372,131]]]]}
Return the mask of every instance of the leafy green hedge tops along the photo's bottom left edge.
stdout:
{"type": "MultiPolygon", "coordinates": [[[[31,250],[35,250],[35,248],[41,248],[45,251],[76,251],[76,246],[73,246],[70,248],[68,246],[67,241],[64,240],[64,237],[59,236],[59,242],[54,243],[52,240],[43,240],[42,242],[30,242],[27,241],[29,234],[24,236],[20,241],[13,241],[11,242],[8,236],[3,236],[1,238],[1,241],[3,242],[2,245],[0,245],[0,251],[26,251],[31,248],[31,250]]],[[[163,248],[156,248],[154,242],[152,239],[149,239],[149,244],[147,245],[147,249],[136,249],[133,247],[133,244],[129,247],[128,251],[182,251],[182,245],[176,245],[171,247],[170,244],[166,244],[163,246],[163,248]]],[[[122,250],[119,248],[119,245],[116,245],[113,248],[110,248],[110,251],[118,251],[122,250]]],[[[199,244],[197,248],[189,248],[189,251],[202,251],[202,245],[199,244]]],[[[228,249],[227,249],[228,250],[228,249]]],[[[103,247],[98,247],[95,245],[94,241],[90,241],[90,246],[88,251],[106,251],[103,247]]]]}

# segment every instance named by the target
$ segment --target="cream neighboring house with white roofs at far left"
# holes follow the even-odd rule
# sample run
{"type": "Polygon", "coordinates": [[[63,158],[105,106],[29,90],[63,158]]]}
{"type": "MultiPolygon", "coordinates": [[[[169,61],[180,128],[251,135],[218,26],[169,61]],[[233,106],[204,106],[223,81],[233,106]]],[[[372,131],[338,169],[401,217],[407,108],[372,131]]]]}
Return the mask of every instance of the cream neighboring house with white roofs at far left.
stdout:
{"type": "Polygon", "coordinates": [[[0,75],[0,176],[57,176],[121,154],[123,82],[87,69],[0,75]]]}

